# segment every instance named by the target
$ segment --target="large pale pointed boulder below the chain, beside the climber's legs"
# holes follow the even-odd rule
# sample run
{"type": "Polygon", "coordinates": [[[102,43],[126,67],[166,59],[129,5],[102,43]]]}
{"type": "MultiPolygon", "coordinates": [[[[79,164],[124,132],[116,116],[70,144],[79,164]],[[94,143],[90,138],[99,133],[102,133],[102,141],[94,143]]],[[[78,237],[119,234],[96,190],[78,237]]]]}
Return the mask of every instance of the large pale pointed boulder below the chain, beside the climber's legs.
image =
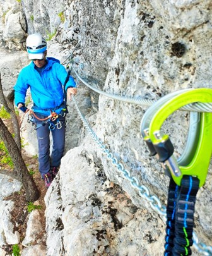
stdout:
{"type": "Polygon", "coordinates": [[[91,148],[95,149],[92,142],[90,149],[84,145],[70,150],[47,192],[47,255],[133,256],[143,255],[145,247],[162,253],[159,226],[163,222],[154,219],[154,228],[151,222],[146,226],[151,214],[135,207],[119,186],[111,185],[91,148]],[[75,161],[70,155],[75,155],[75,161]]]}

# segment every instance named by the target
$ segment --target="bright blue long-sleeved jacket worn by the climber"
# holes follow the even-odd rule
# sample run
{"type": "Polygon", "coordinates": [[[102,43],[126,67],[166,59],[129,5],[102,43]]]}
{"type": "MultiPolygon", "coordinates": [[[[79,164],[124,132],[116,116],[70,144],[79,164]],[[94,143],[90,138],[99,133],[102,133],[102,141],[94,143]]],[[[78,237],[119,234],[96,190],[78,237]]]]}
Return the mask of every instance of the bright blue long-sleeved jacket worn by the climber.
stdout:
{"type": "MultiPolygon", "coordinates": [[[[59,114],[64,102],[62,85],[66,80],[67,72],[58,59],[47,58],[47,65],[42,73],[35,69],[33,61],[23,68],[18,75],[15,89],[15,104],[25,103],[26,90],[30,87],[34,106],[33,111],[49,116],[50,111],[59,114]]],[[[66,90],[69,87],[76,87],[72,76],[66,83],[66,90]]]]}

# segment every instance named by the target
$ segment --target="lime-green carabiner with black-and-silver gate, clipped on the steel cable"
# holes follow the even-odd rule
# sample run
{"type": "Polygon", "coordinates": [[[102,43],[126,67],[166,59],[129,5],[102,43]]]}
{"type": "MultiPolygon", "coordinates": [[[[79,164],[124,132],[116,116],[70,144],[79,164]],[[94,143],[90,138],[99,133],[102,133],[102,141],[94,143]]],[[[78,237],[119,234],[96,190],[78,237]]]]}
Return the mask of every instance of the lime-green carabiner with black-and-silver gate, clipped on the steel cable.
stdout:
{"type": "Polygon", "coordinates": [[[168,167],[173,180],[179,186],[183,175],[196,176],[199,179],[199,187],[204,185],[212,153],[212,113],[201,113],[196,150],[191,159],[184,161],[186,162],[185,166],[177,164],[173,155],[172,142],[168,135],[160,134],[160,128],[170,114],[180,107],[194,102],[212,102],[212,89],[197,88],[173,97],[156,111],[149,127],[150,140],[159,155],[159,161],[168,167]]]}

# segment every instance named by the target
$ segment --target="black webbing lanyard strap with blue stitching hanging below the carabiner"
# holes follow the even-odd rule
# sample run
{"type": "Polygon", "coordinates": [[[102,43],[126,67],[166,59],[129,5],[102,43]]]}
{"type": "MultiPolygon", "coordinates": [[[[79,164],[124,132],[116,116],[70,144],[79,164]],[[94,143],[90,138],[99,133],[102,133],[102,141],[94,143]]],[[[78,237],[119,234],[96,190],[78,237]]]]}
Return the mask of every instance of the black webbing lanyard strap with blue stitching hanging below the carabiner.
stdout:
{"type": "Polygon", "coordinates": [[[184,175],[181,186],[170,179],[167,202],[165,256],[191,255],[194,207],[199,179],[184,175]]]}

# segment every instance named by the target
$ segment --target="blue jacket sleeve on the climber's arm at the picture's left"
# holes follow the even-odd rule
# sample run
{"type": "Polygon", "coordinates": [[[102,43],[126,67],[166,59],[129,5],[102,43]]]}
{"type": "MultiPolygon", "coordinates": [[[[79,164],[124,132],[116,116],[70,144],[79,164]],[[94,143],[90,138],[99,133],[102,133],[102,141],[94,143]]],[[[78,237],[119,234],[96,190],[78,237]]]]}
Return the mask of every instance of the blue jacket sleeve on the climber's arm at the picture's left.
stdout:
{"type": "Polygon", "coordinates": [[[16,85],[14,88],[15,90],[15,105],[18,106],[18,103],[25,103],[26,91],[29,85],[26,82],[23,75],[23,71],[21,70],[20,74],[18,75],[18,79],[16,81],[16,85]]]}

